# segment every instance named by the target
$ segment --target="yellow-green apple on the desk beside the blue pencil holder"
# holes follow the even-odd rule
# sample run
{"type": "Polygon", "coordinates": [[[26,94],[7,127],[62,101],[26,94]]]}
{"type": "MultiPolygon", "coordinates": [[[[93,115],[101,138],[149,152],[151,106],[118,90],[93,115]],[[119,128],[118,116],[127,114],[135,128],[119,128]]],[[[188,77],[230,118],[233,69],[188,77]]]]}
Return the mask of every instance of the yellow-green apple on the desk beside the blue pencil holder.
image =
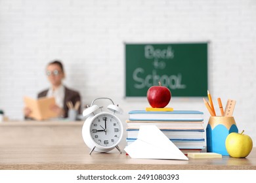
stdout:
{"type": "Polygon", "coordinates": [[[248,135],[242,133],[230,133],[226,137],[226,150],[233,158],[245,158],[253,148],[253,141],[248,135]]]}

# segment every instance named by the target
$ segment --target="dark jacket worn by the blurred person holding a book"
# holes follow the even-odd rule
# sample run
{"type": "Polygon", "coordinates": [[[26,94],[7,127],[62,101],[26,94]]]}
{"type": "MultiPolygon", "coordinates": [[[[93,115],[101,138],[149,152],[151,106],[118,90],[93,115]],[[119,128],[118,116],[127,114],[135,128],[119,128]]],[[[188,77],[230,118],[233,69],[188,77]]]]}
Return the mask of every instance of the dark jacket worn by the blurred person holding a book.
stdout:
{"type": "MultiPolygon", "coordinates": [[[[68,101],[72,101],[73,105],[75,106],[75,103],[77,101],[80,101],[81,102],[81,97],[80,97],[80,94],[79,92],[77,91],[74,91],[74,90],[70,90],[69,88],[66,88],[66,86],[64,86],[64,118],[67,118],[68,117],[68,106],[66,105],[66,103],[68,101]]],[[[38,98],[41,98],[41,97],[46,97],[47,96],[47,92],[48,92],[49,89],[47,90],[43,90],[43,92],[40,92],[38,93],[37,97],[38,98]]],[[[81,112],[81,105],[79,107],[79,113],[81,112]]]]}

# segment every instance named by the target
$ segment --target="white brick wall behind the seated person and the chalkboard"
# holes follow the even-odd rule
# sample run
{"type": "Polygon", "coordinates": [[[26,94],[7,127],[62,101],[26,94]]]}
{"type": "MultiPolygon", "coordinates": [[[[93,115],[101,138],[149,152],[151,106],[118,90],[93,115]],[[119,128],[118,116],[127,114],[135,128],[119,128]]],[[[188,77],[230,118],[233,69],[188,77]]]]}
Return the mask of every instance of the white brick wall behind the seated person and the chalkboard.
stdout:
{"type": "MultiPolygon", "coordinates": [[[[111,97],[127,112],[148,106],[124,98],[123,42],[209,41],[209,90],[217,107],[236,99],[240,131],[256,142],[256,1],[0,0],[0,108],[22,118],[22,97],[47,88],[44,68],[61,59],[67,86],[83,104],[111,97]]],[[[209,113],[202,98],[173,98],[176,110],[209,113]]]]}

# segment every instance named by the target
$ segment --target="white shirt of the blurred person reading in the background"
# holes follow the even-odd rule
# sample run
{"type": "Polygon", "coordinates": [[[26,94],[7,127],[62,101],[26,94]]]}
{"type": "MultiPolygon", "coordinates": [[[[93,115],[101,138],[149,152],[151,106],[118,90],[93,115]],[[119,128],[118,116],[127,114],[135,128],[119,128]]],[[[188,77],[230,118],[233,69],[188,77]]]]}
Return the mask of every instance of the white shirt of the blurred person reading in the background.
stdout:
{"type": "Polygon", "coordinates": [[[65,95],[65,88],[63,85],[60,85],[56,90],[53,88],[49,88],[47,92],[47,97],[54,97],[56,105],[60,108],[64,108],[64,95],[65,95]]]}

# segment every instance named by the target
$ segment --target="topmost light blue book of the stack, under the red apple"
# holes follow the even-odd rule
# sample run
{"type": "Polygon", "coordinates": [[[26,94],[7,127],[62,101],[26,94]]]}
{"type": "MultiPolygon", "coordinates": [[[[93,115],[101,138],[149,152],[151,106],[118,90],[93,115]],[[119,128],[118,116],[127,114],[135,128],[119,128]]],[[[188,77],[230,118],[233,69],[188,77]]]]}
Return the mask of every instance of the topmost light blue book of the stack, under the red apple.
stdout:
{"type": "Polygon", "coordinates": [[[203,112],[198,110],[173,110],[171,112],[131,110],[131,121],[202,122],[203,112]]]}

